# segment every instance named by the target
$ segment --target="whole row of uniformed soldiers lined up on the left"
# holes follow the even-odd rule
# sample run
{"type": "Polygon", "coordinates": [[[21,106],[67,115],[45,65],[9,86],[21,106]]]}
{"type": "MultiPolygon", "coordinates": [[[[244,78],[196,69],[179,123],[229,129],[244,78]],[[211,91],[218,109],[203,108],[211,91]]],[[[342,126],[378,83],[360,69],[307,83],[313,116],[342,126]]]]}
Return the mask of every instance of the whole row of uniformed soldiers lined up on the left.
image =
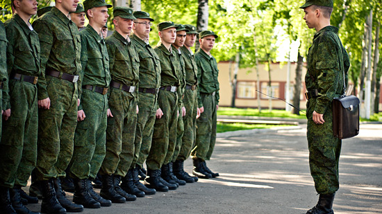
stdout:
{"type": "Polygon", "coordinates": [[[115,32],[103,39],[104,0],[56,0],[33,24],[36,0],[11,4],[0,24],[1,213],[35,213],[24,205],[39,194],[42,213],[81,212],[219,176],[206,166],[219,102],[213,31],[199,33],[193,54],[196,28],[172,21],[158,24],[152,48],[148,12],[114,8],[115,32]],[[196,177],[183,169],[189,156],[196,177]]]}

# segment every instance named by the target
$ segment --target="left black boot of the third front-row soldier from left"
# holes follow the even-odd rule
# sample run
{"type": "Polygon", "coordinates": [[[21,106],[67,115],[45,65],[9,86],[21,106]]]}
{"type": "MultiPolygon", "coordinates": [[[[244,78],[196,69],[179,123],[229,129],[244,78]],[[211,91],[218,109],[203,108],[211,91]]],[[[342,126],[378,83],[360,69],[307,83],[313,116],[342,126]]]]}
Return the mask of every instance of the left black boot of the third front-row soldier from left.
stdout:
{"type": "Polygon", "coordinates": [[[85,208],[100,208],[101,204],[94,200],[87,188],[86,181],[88,179],[73,179],[74,181],[74,196],[73,202],[76,204],[82,204],[85,208]]]}

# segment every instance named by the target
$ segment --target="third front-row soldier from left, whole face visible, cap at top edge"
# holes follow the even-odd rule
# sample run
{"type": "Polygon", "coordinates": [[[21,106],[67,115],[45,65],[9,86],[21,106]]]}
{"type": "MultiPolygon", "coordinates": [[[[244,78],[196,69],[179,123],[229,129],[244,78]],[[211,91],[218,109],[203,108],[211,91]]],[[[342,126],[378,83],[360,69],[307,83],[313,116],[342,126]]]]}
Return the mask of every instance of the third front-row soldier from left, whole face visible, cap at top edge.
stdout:
{"type": "Polygon", "coordinates": [[[89,24],[80,33],[82,90],[70,174],[75,186],[73,201],[86,208],[99,208],[111,206],[110,200],[94,192],[91,180],[106,154],[107,117],[113,117],[108,109],[109,57],[101,34],[112,6],[104,0],[86,0],[83,6],[89,24]]]}

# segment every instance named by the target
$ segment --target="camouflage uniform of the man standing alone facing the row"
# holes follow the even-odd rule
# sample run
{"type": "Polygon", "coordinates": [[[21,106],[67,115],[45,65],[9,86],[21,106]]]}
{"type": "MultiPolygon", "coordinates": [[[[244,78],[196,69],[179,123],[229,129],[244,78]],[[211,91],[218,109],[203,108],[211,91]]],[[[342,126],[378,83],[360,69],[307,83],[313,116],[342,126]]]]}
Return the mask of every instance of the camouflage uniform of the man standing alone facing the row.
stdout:
{"type": "Polygon", "coordinates": [[[338,160],[341,140],[333,135],[332,100],[344,93],[349,55],[338,38],[338,28],[326,26],[315,34],[308,53],[306,89],[317,89],[317,97],[306,103],[310,174],[319,194],[333,194],[339,188],[338,160]],[[313,122],[313,112],[324,114],[324,124],[313,122]]]}

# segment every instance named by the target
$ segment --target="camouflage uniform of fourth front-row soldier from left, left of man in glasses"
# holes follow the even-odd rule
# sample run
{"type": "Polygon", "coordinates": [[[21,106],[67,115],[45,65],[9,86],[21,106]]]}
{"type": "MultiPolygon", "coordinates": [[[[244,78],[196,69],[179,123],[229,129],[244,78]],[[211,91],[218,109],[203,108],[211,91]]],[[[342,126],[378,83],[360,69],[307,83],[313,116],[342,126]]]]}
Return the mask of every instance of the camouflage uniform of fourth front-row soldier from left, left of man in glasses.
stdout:
{"type": "Polygon", "coordinates": [[[113,87],[114,84],[110,84],[108,104],[114,117],[108,118],[106,157],[100,172],[124,177],[135,154],[138,100],[138,92],[135,89],[138,89],[139,58],[131,41],[126,40],[117,31],[106,39],[106,46],[112,81],[116,83],[115,86],[120,86],[117,89],[113,87]],[[128,89],[132,87],[134,91],[129,92],[128,89]]]}

